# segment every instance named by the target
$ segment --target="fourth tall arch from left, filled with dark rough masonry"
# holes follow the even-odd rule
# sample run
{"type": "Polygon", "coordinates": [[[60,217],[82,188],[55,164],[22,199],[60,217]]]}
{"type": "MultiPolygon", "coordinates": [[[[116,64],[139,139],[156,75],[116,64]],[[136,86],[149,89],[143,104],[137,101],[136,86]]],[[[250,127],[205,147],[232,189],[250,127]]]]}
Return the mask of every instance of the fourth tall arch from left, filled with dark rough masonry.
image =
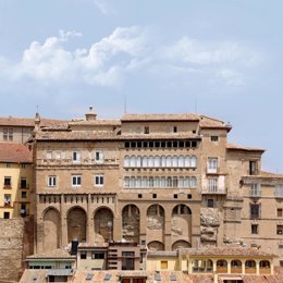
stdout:
{"type": "Polygon", "coordinates": [[[139,209],[135,205],[123,208],[122,230],[123,239],[139,244],[139,209]]]}

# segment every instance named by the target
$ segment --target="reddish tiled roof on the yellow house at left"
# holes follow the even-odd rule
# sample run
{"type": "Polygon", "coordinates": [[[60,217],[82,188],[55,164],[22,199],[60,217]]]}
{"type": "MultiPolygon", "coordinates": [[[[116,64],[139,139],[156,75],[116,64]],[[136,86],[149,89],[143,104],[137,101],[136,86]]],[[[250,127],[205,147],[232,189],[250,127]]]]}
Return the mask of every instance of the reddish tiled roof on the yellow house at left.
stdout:
{"type": "Polygon", "coordinates": [[[0,162],[32,163],[33,151],[26,146],[15,143],[0,143],[0,162]]]}

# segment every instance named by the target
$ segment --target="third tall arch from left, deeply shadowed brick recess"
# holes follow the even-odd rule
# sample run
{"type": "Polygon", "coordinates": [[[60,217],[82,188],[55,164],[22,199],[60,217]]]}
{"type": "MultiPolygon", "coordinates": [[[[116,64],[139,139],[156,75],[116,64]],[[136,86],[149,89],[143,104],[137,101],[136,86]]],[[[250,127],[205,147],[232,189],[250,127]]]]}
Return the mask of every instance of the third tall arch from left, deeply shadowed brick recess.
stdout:
{"type": "Polygon", "coordinates": [[[98,208],[94,213],[94,230],[96,242],[113,239],[113,212],[107,207],[98,208]]]}

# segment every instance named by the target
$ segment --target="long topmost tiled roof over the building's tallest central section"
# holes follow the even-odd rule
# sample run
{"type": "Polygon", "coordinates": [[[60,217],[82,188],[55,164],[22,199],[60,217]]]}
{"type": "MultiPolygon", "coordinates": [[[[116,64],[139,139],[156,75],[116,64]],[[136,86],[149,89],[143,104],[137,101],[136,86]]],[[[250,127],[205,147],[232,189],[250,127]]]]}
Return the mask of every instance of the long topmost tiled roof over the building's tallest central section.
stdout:
{"type": "Polygon", "coordinates": [[[199,115],[183,114],[124,114],[122,122],[157,122],[157,121],[199,121],[199,115]]]}

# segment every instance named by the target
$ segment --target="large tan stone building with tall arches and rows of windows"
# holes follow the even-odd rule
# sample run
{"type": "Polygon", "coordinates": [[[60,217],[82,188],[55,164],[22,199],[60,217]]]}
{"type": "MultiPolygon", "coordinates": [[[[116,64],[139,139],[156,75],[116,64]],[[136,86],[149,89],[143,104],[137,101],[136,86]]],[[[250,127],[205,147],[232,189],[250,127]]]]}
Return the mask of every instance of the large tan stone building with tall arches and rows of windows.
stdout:
{"type": "Polygon", "coordinates": [[[152,251],[248,246],[280,260],[283,175],[261,171],[264,150],[227,144],[231,128],[198,114],[100,120],[90,108],[39,130],[36,251],[114,241],[152,251]]]}

